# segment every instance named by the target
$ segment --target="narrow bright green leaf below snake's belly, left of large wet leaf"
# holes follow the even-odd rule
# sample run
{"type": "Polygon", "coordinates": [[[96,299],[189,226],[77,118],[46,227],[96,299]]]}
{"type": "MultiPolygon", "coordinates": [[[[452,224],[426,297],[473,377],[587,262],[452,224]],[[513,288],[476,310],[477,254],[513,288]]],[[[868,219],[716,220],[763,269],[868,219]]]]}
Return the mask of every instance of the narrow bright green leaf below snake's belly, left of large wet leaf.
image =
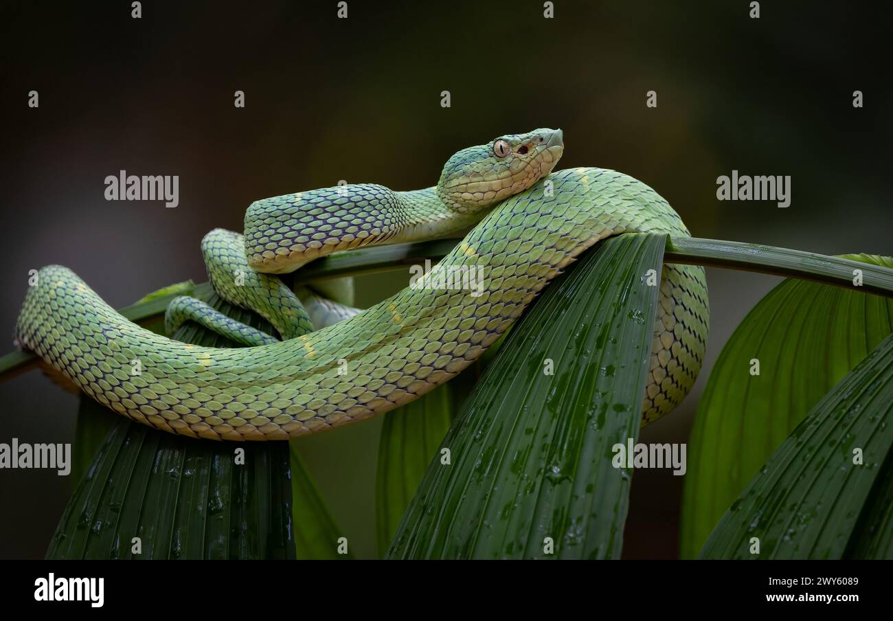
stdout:
{"type": "Polygon", "coordinates": [[[375,489],[376,541],[384,555],[452,417],[452,382],[385,415],[375,489]]]}

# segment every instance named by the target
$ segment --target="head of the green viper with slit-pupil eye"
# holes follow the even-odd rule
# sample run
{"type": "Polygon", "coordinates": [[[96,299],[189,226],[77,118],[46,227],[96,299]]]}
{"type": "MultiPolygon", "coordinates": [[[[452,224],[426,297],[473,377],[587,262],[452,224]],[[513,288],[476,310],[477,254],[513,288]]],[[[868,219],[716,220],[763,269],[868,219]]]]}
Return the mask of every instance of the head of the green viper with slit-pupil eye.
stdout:
{"type": "Polygon", "coordinates": [[[494,138],[453,155],[438,181],[438,197],[460,214],[475,214],[530,188],[564,151],[562,130],[539,129],[494,138]]]}

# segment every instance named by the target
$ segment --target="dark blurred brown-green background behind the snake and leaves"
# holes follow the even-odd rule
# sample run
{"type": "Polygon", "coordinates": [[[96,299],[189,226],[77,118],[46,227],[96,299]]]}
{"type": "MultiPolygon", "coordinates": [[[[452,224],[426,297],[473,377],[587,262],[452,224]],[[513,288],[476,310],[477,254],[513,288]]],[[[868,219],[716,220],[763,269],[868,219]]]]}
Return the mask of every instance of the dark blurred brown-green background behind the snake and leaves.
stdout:
{"type": "MultiPolygon", "coordinates": [[[[12,331],[30,269],[69,265],[125,306],[204,281],[199,240],[240,231],[252,200],[342,179],[430,186],[456,150],[540,126],[564,130],[559,168],[638,177],[698,237],[893,254],[889,21],[873,4],[764,2],[757,20],[744,0],[555,5],[547,20],[538,1],[350,0],[339,20],[334,0],[144,2],[135,20],[129,1],[4,3],[0,331],[12,331]],[[179,175],[179,207],[105,201],[104,178],[121,169],[179,175]],[[791,206],[717,201],[732,169],[790,175],[791,206]]],[[[707,372],[778,281],[708,279],[707,372]]],[[[361,279],[358,301],[406,281],[361,279]]],[[[644,441],[686,441],[706,376],[644,441]]],[[[0,384],[0,441],[72,441],[76,406],[40,373],[0,384]]],[[[380,422],[302,441],[361,557],[375,550],[380,422]]],[[[624,556],[676,557],[681,478],[637,472],[624,556]]],[[[43,556],[71,483],[0,471],[0,558],[43,556]]]]}

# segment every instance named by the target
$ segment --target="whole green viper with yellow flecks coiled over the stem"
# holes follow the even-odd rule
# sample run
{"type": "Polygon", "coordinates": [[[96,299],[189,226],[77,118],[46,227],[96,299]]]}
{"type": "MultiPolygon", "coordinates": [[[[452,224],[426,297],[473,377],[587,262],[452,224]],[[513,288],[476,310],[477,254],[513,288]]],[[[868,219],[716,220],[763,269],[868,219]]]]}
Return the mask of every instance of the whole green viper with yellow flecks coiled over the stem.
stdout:
{"type": "MultiPolygon", "coordinates": [[[[534,130],[456,153],[433,188],[357,184],[255,202],[244,237],[215,230],[202,249],[221,298],[255,310],[280,338],[177,298],[166,315],[169,334],[191,320],[250,347],[172,340],[129,322],[71,270],[49,265],[29,288],[15,340],[104,406],[192,437],[286,440],[387,412],[480,357],[599,239],[689,235],[638,180],[597,168],[552,172],[562,153],[561,130],[534,130]],[[319,297],[302,302],[271,275],[337,250],[468,230],[415,286],[362,312],[319,297]],[[428,286],[438,271],[466,268],[482,274],[475,291],[428,286]]],[[[695,382],[707,321],[703,268],[665,265],[643,423],[670,412],[695,382]]]]}

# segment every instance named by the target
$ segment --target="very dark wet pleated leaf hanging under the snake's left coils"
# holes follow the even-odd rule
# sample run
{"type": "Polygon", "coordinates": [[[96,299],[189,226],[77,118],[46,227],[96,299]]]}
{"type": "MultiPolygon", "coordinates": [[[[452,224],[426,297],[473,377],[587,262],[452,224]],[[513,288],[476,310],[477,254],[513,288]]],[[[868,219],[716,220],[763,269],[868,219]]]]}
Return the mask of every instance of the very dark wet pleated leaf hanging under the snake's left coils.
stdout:
{"type": "MultiPolygon", "coordinates": [[[[195,293],[221,312],[271,331],[206,285],[196,286],[195,293]]],[[[194,323],[184,324],[175,338],[234,346],[194,323]]],[[[323,545],[306,535],[338,529],[287,442],[196,441],[110,417],[82,399],[76,430],[82,445],[76,446],[73,467],[83,471],[88,458],[90,463],[48,558],[327,558],[336,549],[333,539],[323,545]],[[110,424],[112,431],[96,450],[110,424]],[[236,464],[238,449],[244,450],[244,465],[236,464]],[[294,536],[293,521],[304,536],[294,536]],[[132,551],[134,537],[140,554],[132,551]]]]}

